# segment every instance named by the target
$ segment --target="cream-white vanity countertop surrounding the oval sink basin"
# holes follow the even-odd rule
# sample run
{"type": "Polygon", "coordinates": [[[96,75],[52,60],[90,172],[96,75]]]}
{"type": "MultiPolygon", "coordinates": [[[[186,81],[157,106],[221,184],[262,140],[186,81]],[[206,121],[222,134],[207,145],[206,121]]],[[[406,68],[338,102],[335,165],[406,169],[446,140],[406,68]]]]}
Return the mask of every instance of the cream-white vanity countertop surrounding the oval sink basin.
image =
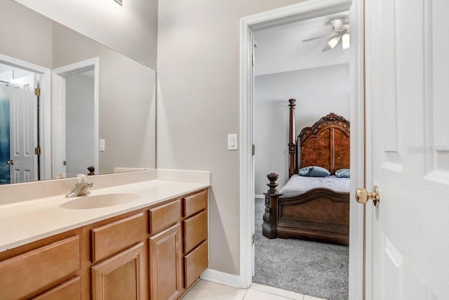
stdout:
{"type": "Polygon", "coordinates": [[[0,205],[0,252],[209,186],[210,183],[205,182],[154,179],[93,189],[90,195],[81,197],[113,193],[138,195],[138,199],[131,202],[95,209],[62,208],[61,204],[79,198],[66,198],[65,195],[0,205]]]}

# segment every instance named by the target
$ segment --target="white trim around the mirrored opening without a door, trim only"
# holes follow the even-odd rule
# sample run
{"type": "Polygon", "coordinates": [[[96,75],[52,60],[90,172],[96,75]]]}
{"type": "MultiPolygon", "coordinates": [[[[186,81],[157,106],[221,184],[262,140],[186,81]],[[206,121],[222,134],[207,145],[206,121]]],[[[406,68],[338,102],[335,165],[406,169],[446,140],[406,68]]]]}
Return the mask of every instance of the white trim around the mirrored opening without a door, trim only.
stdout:
{"type": "MultiPolygon", "coordinates": [[[[99,93],[99,59],[91,58],[88,60],[82,60],[78,63],[73,63],[71,65],[65,65],[63,67],[58,67],[53,69],[52,82],[53,82],[53,160],[55,162],[60,162],[61,153],[65,156],[65,143],[62,143],[62,137],[65,137],[65,77],[71,74],[81,73],[85,71],[93,70],[94,72],[94,88],[93,88],[93,138],[94,146],[93,150],[94,156],[94,167],[95,173],[100,174],[99,169],[99,152],[98,152],[98,93],[99,93]]],[[[65,138],[64,138],[65,141],[65,138]]],[[[55,163],[53,163],[53,176],[60,174],[62,169],[58,169],[55,163]]]]}

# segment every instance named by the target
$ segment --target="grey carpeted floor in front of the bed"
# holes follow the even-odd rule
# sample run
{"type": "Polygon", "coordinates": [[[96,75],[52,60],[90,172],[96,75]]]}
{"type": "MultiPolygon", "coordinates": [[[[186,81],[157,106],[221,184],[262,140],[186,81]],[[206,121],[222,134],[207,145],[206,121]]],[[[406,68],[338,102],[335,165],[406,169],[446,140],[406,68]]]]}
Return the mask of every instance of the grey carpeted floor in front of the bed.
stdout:
{"type": "Polygon", "coordinates": [[[253,282],[328,300],[348,299],[349,248],[262,235],[264,200],[255,200],[253,282]]]}

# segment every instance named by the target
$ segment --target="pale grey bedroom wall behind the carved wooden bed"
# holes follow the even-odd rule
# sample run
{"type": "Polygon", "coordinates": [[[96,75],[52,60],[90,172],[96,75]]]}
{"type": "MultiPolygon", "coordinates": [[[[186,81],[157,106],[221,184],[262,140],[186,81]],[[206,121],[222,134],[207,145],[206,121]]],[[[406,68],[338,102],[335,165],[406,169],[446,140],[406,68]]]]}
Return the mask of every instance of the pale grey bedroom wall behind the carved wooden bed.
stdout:
{"type": "Polygon", "coordinates": [[[296,99],[296,135],[334,112],[349,119],[347,65],[255,77],[255,195],[267,192],[267,174],[288,181],[288,99],[296,99]]]}

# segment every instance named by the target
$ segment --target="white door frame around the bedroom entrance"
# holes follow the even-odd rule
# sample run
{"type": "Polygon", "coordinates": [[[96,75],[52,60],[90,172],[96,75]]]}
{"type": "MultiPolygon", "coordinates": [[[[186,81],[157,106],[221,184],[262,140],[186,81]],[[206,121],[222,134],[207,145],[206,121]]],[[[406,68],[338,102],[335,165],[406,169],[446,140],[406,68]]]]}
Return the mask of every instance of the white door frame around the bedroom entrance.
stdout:
{"type": "MultiPolygon", "coordinates": [[[[240,276],[241,288],[252,283],[254,224],[254,82],[252,67],[253,31],[347,11],[351,22],[351,187],[364,186],[364,70],[363,0],[309,0],[240,20],[240,276]]],[[[349,229],[349,299],[363,299],[363,206],[351,190],[349,229]]]]}

